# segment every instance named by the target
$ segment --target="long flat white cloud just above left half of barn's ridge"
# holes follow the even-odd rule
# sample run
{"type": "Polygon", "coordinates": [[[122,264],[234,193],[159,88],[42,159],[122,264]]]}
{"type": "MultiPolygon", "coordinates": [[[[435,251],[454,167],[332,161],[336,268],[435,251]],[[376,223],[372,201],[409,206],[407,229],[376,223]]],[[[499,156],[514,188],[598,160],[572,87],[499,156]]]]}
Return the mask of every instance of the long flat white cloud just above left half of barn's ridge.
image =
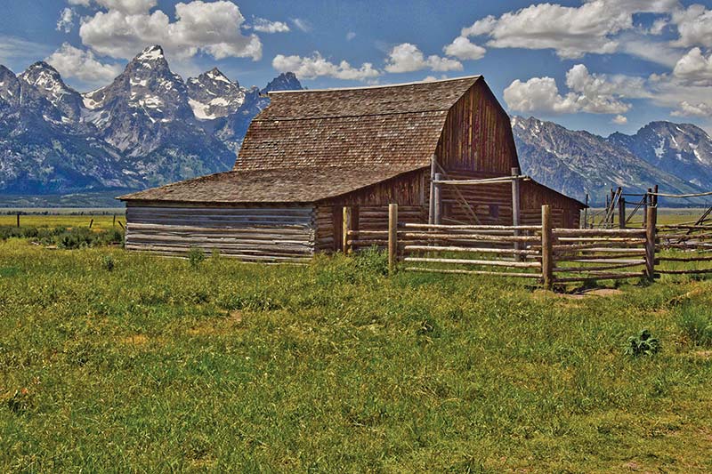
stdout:
{"type": "Polygon", "coordinates": [[[296,76],[305,79],[328,76],[336,79],[364,81],[381,74],[369,62],[364,62],[360,68],[354,68],[345,60],[335,64],[322,57],[320,52],[314,52],[309,57],[278,54],[272,60],[272,67],[279,72],[294,72],[296,76]]]}

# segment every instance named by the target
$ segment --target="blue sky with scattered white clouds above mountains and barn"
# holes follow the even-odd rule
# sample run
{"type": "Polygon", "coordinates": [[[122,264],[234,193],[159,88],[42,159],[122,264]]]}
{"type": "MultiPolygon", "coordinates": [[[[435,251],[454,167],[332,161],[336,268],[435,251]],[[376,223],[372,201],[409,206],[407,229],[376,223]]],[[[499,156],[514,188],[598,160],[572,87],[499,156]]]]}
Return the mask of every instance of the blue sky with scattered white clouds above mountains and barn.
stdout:
{"type": "Polygon", "coordinates": [[[324,88],[481,74],[513,115],[603,135],[652,120],[712,132],[712,0],[0,5],[0,62],[48,60],[79,91],[158,43],[184,77],[217,66],[263,86],[294,70],[324,88]]]}

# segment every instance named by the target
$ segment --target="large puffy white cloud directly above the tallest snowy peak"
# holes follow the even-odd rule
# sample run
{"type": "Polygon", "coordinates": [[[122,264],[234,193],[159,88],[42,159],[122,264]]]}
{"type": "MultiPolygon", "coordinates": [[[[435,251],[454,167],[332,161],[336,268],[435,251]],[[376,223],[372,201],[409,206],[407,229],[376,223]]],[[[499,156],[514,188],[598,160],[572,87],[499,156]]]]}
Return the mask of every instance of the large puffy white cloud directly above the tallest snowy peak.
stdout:
{"type": "Polygon", "coordinates": [[[198,52],[206,52],[218,60],[262,58],[260,38],[242,34],[240,28],[245,17],[232,2],[179,3],[175,5],[172,21],[161,10],[146,10],[155,3],[153,0],[97,1],[109,10],[84,18],[79,36],[86,46],[102,55],[130,59],[148,44],[161,44],[166,52],[183,59],[198,52]]]}

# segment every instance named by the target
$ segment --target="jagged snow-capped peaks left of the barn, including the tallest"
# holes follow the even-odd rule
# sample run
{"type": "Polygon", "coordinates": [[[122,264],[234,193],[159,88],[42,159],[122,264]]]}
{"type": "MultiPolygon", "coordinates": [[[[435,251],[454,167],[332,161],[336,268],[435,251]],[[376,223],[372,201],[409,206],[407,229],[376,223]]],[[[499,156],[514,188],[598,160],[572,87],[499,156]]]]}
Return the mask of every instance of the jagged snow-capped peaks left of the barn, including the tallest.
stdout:
{"type": "Polygon", "coordinates": [[[217,69],[184,82],[158,45],[84,94],[44,61],[18,76],[0,66],[0,194],[142,189],[229,170],[268,102],[217,69]]]}

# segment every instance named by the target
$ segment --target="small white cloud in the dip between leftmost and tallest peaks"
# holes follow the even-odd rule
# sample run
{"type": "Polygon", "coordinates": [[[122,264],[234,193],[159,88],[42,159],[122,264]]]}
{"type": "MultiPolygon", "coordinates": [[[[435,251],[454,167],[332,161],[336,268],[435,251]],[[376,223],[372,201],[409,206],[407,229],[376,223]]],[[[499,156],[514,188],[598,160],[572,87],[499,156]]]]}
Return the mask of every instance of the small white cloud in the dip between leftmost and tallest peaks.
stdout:
{"type": "Polygon", "coordinates": [[[106,84],[121,74],[121,66],[104,64],[91,51],[81,50],[69,43],[46,58],[47,63],[64,77],[76,78],[85,84],[106,84]]]}

